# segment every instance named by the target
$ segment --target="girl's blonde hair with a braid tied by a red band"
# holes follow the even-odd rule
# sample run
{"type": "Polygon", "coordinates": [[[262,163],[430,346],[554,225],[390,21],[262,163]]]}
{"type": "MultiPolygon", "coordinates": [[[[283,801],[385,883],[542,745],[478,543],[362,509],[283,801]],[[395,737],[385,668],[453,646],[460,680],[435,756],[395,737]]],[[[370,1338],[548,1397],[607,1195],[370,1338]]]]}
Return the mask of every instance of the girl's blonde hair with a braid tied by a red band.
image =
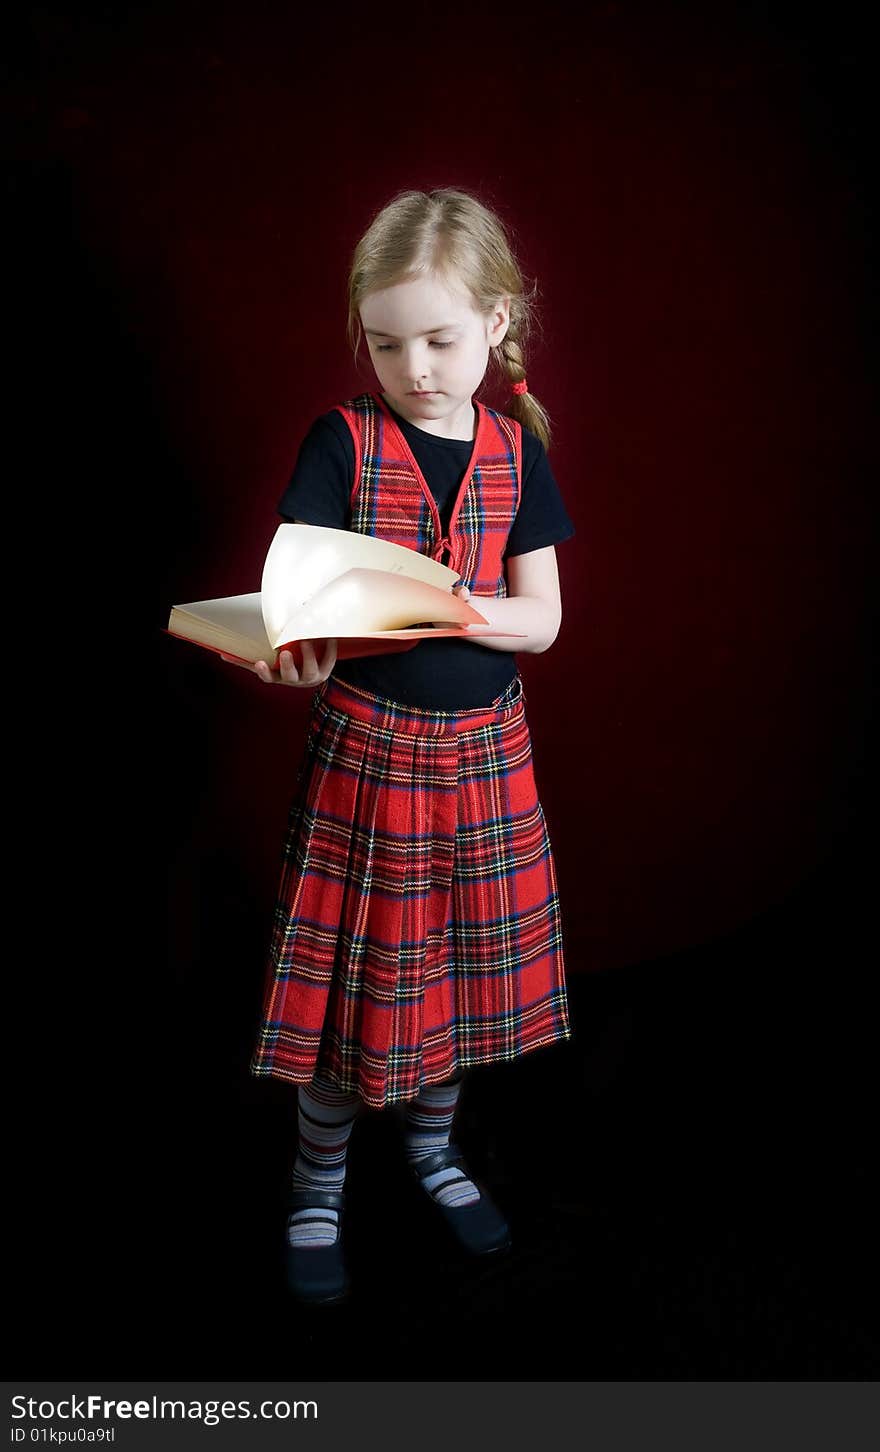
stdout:
{"type": "MultiPolygon", "coordinates": [[[[349,272],[347,331],[354,359],[364,298],[425,273],[463,285],[475,309],[484,315],[500,298],[510,298],[510,327],[491,350],[491,359],[505,383],[523,382],[537,286],[526,289],[501,219],[476,197],[453,187],[401,192],[376,213],[360,238],[349,272]]],[[[513,393],[505,412],[549,447],[550,420],[534,393],[513,393]]]]}

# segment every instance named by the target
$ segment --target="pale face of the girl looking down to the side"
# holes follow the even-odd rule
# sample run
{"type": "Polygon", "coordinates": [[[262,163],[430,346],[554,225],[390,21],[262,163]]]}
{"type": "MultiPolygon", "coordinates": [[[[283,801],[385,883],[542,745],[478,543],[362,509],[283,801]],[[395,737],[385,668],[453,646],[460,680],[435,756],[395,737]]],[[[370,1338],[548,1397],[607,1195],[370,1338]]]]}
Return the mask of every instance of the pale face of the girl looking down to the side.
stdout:
{"type": "Polygon", "coordinates": [[[360,321],[385,401],[430,434],[472,439],[470,399],[507,333],[510,299],[484,315],[428,274],[370,293],[360,321]]]}

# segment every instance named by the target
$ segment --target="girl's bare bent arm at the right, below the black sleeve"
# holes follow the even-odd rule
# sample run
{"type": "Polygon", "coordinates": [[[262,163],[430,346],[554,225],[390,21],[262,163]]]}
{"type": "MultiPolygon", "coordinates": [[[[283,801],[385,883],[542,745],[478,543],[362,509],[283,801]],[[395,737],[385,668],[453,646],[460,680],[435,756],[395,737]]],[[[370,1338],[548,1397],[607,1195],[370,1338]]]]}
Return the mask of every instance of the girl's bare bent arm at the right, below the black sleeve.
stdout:
{"type": "Polygon", "coordinates": [[[502,636],[479,635],[469,639],[489,646],[491,650],[529,650],[540,655],[553,645],[562,623],[555,546],[547,544],[545,549],[508,559],[507,590],[507,597],[501,600],[492,595],[469,595],[463,587],[456,588],[456,592],[462,600],[469,598],[473,608],[479,610],[497,630],[517,630],[521,639],[507,640],[502,636]]]}

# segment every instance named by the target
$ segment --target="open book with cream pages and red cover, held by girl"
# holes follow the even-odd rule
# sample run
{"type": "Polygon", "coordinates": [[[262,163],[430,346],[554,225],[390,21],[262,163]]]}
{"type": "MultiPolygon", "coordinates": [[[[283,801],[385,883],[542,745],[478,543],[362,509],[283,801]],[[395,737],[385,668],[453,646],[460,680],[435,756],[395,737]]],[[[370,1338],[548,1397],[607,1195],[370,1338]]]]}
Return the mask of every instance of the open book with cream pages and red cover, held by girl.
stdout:
{"type": "Polygon", "coordinates": [[[174,605],[168,635],[274,666],[299,640],[334,637],[338,659],[408,650],[437,636],[508,636],[452,594],[459,575],[417,550],[317,524],[279,524],[248,595],[174,605]]]}

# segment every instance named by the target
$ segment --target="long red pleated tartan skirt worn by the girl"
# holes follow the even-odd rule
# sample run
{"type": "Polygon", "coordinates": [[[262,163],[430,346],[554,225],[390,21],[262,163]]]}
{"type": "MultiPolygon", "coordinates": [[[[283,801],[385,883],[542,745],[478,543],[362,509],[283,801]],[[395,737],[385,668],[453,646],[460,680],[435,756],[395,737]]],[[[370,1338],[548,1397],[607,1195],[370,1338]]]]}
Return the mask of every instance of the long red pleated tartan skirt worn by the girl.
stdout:
{"type": "Polygon", "coordinates": [[[523,682],[434,711],[315,693],[251,1073],[382,1108],[571,1037],[523,682]]]}

